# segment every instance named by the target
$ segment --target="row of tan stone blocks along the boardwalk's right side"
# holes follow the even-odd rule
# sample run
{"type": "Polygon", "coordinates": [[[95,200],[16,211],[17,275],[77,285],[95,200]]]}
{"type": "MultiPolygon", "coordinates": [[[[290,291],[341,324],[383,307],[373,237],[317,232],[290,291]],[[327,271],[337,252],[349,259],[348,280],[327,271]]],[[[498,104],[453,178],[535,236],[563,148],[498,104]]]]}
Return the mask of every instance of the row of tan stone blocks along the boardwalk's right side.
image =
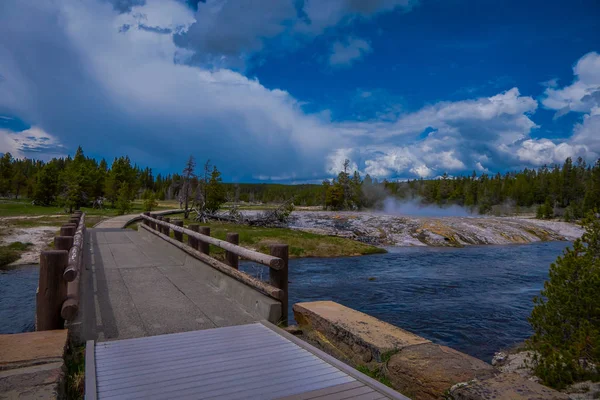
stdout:
{"type": "Polygon", "coordinates": [[[555,390],[332,301],[294,304],[301,329],[354,366],[383,371],[412,399],[568,399],[555,390]]]}

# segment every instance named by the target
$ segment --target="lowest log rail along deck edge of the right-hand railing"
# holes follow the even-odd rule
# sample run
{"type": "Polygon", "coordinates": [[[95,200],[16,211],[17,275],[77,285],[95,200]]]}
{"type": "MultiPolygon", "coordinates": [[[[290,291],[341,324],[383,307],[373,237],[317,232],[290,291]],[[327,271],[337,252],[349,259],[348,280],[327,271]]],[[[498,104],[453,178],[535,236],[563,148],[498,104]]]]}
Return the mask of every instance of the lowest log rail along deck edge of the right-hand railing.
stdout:
{"type": "Polygon", "coordinates": [[[188,253],[189,255],[197,258],[198,260],[204,262],[205,264],[210,265],[211,267],[213,267],[214,269],[216,269],[217,271],[220,271],[242,283],[244,283],[245,285],[248,285],[256,290],[258,290],[259,292],[261,292],[262,294],[265,294],[275,300],[279,300],[281,301],[281,299],[284,296],[284,293],[281,289],[277,289],[274,288],[273,286],[262,282],[250,275],[247,275],[243,272],[240,272],[236,269],[231,268],[229,265],[224,264],[218,260],[215,260],[214,258],[203,254],[201,252],[199,252],[198,250],[194,250],[192,249],[190,246],[187,246],[183,243],[178,242],[177,240],[166,236],[163,233],[157,232],[157,231],[153,231],[150,228],[147,228],[144,225],[140,225],[142,229],[147,230],[148,232],[152,232],[155,235],[157,235],[158,237],[160,237],[161,239],[166,240],[167,242],[173,244],[174,246],[180,248],[181,250],[185,251],[186,253],[188,253]]]}

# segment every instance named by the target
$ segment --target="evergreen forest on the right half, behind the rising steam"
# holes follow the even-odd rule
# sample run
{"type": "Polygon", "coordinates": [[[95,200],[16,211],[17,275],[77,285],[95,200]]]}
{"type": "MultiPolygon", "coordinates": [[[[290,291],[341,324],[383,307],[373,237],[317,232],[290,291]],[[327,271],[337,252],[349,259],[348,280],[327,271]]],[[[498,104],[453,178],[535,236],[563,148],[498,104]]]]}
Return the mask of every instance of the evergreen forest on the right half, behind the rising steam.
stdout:
{"type": "Polygon", "coordinates": [[[518,172],[415,179],[404,182],[378,181],[356,171],[350,174],[349,161],[333,180],[323,181],[323,204],[333,210],[381,208],[388,196],[419,201],[440,207],[459,205],[487,214],[504,207],[513,212],[535,207],[539,218],[582,218],[600,209],[600,159],[588,164],[582,158],[574,163],[544,165],[518,172]]]}

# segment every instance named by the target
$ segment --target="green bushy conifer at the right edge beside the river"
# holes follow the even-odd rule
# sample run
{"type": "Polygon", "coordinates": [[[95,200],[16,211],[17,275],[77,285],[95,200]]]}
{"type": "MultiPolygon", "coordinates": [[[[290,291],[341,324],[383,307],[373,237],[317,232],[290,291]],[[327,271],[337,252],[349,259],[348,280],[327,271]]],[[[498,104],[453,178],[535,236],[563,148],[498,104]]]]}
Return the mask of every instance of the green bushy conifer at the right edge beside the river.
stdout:
{"type": "Polygon", "coordinates": [[[590,213],[584,227],[551,265],[529,318],[536,375],[559,389],[600,379],[600,220],[590,213]]]}

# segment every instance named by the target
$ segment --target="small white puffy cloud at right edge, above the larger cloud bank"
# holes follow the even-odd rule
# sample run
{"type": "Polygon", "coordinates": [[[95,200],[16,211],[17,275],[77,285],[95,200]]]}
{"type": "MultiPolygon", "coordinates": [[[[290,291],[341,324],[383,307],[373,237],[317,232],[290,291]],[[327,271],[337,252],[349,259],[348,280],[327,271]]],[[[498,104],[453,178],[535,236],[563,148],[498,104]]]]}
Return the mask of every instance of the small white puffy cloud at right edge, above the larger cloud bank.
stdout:
{"type": "Polygon", "coordinates": [[[581,57],[573,73],[572,84],[563,88],[548,87],[544,92],[542,104],[558,110],[557,116],[569,111],[587,113],[600,106],[600,54],[593,51],[581,57]]]}

